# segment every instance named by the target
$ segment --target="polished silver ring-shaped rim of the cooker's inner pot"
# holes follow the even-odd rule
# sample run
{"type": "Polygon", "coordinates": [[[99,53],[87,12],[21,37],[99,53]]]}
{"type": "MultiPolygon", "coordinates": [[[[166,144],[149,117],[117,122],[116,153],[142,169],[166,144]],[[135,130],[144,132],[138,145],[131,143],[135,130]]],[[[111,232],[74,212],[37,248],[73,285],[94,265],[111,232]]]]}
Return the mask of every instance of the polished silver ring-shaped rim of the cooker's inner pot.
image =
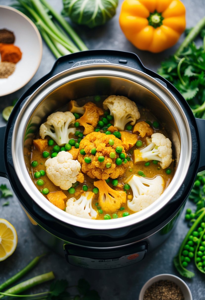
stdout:
{"type": "Polygon", "coordinates": [[[164,206],[170,201],[170,199],[172,199],[176,195],[176,193],[182,186],[189,169],[192,152],[192,139],[188,120],[179,102],[176,100],[174,95],[155,78],[131,67],[125,67],[110,63],[94,63],[72,67],[68,70],[54,75],[53,77],[46,80],[42,85],[40,85],[32,93],[32,95],[29,96],[29,98],[23,104],[14,124],[11,150],[14,170],[20,182],[24,183],[24,189],[27,191],[29,190],[29,194],[35,201],[35,203],[39,205],[50,216],[53,216],[54,218],[64,223],[87,229],[93,229],[93,227],[95,229],[119,229],[121,227],[140,223],[141,221],[144,221],[145,219],[153,216],[155,213],[164,208],[164,206]],[[157,95],[161,99],[161,101],[166,103],[168,109],[172,111],[172,115],[173,112],[175,114],[174,119],[177,124],[181,139],[180,153],[183,153],[183,155],[180,155],[179,164],[177,170],[175,171],[174,177],[166,190],[155,202],[153,202],[142,211],[133,213],[126,218],[111,219],[109,221],[106,221],[84,219],[73,216],[66,213],[65,211],[60,210],[47,199],[45,199],[45,197],[41,193],[39,193],[38,189],[35,187],[30,176],[27,176],[28,178],[26,178],[25,180],[24,174],[28,174],[28,169],[26,167],[23,156],[24,134],[22,134],[22,132],[25,133],[28,121],[31,118],[36,107],[38,107],[41,101],[48,94],[50,94],[61,85],[69,81],[81,79],[88,76],[115,76],[122,79],[127,79],[131,82],[134,81],[136,83],[142,84],[146,88],[149,87],[149,90],[154,92],[154,94],[157,95]],[[151,87],[149,86],[150,83],[152,83],[151,87]]]}

